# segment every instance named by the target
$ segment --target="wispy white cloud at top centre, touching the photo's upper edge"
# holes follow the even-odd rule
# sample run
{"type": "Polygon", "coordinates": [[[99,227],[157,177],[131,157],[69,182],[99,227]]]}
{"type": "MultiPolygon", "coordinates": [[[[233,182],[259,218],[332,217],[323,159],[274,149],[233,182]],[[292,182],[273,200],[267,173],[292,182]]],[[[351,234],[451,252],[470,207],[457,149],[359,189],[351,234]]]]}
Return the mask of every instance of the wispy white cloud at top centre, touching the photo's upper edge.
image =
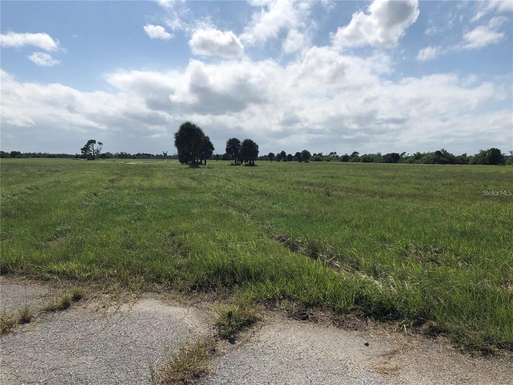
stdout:
{"type": "Polygon", "coordinates": [[[276,38],[282,30],[306,28],[313,23],[309,20],[313,2],[294,2],[280,0],[275,2],[256,2],[262,7],[254,12],[251,22],[244,29],[241,41],[247,45],[265,43],[276,38]]]}

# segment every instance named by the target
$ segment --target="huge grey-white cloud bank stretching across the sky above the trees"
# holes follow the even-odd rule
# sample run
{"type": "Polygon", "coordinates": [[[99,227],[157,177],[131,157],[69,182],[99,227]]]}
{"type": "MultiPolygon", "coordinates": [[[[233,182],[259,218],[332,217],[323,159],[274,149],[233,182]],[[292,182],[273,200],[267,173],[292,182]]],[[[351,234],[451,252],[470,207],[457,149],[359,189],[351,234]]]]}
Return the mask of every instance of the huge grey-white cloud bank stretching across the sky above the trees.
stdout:
{"type": "Polygon", "coordinates": [[[482,112],[506,98],[499,85],[446,73],[391,81],[384,76],[391,71],[382,53],[359,57],[312,47],[287,64],[191,60],[183,70],[116,71],[106,75],[114,92],[21,83],[3,73],[2,134],[100,132],[112,143],[137,138],[115,150],[143,150],[134,148],[142,143],[171,149],[177,125],[193,120],[218,149],[234,135],[251,137],[263,151],[289,152],[442,146],[471,152],[513,139],[510,111],[482,112]]]}

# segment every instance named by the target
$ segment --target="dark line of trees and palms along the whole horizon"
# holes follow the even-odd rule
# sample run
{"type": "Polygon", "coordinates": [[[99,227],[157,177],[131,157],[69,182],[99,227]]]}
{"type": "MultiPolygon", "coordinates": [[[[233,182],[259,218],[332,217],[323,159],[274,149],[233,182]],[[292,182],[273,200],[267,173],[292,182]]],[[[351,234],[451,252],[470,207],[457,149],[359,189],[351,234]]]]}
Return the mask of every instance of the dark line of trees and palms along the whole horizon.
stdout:
{"type": "Polygon", "coordinates": [[[245,163],[254,166],[256,160],[278,161],[278,162],[361,162],[361,163],[416,163],[416,164],[482,164],[482,165],[513,165],[513,151],[509,151],[506,156],[498,148],[488,148],[480,150],[475,155],[468,156],[453,155],[445,149],[431,152],[415,152],[407,154],[406,152],[389,152],[382,154],[365,153],[360,155],[358,151],[353,151],[350,155],[338,155],[336,151],[324,154],[322,152],[313,153],[302,150],[292,155],[284,150],[269,152],[267,155],[259,156],[259,146],[251,139],[244,139],[242,142],[237,138],[230,138],[226,141],[225,153],[214,154],[214,146],[210,138],[205,135],[203,129],[192,123],[185,122],[174,134],[174,145],[178,152],[174,155],[168,155],[167,151],[162,154],[152,154],[146,152],[101,152],[102,142],[96,142],[91,139],[81,148],[81,154],[68,153],[46,153],[46,152],[20,152],[20,151],[0,151],[0,158],[82,158],[82,159],[178,159],[182,164],[200,165],[207,164],[207,160],[227,160],[232,161],[233,165],[245,163]]]}

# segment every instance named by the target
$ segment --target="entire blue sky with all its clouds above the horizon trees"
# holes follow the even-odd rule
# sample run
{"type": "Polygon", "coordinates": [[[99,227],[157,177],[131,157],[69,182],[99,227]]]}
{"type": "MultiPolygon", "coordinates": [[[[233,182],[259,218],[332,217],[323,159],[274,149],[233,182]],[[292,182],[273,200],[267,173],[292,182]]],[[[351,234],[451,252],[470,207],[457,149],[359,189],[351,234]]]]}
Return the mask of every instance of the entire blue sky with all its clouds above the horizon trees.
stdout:
{"type": "Polygon", "coordinates": [[[1,1],[2,150],[513,150],[513,0],[1,1]]]}

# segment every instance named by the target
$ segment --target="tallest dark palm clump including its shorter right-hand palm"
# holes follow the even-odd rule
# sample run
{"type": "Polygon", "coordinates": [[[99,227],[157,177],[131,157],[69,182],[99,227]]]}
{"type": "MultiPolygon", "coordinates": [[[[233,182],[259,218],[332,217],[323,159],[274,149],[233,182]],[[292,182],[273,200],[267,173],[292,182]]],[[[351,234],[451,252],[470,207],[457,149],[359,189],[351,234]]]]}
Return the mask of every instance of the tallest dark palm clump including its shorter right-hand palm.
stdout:
{"type": "Polygon", "coordinates": [[[174,133],[174,146],[178,150],[178,160],[182,164],[202,164],[212,156],[214,145],[205,135],[200,126],[192,123],[183,123],[174,133]]]}

